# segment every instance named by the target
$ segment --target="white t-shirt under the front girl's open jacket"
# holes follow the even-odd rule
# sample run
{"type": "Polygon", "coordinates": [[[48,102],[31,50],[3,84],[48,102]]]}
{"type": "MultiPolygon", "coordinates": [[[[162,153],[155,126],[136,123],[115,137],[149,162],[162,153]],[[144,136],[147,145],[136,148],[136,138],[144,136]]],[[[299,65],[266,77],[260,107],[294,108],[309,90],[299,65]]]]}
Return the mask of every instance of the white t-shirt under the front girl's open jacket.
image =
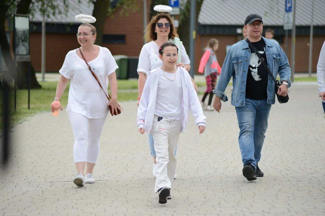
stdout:
{"type": "Polygon", "coordinates": [[[177,68],[176,73],[173,74],[167,72],[163,73],[162,69],[159,69],[158,73],[159,82],[157,89],[155,115],[168,119],[181,120],[184,111],[181,69],[177,68]],[[172,81],[166,77],[175,80],[172,81]]]}

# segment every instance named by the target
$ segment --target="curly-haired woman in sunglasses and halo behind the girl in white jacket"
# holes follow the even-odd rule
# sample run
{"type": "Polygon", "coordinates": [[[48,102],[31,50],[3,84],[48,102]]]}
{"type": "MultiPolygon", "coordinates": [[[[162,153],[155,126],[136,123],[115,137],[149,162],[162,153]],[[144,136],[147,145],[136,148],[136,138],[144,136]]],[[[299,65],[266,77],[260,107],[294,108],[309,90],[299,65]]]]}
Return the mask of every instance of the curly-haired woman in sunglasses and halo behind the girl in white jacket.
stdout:
{"type": "MultiPolygon", "coordinates": [[[[164,12],[170,12],[171,7],[158,5],[154,7],[154,10],[162,12],[152,17],[149,24],[147,25],[145,38],[148,41],[140,52],[139,63],[137,72],[139,74],[138,79],[138,101],[137,105],[139,106],[139,101],[142,95],[143,87],[147,79],[147,73],[157,67],[162,66],[162,60],[159,58],[159,47],[164,42],[171,41],[179,47],[179,59],[177,61],[177,67],[183,67],[187,71],[190,70],[190,61],[186,53],[185,47],[182,42],[179,40],[176,29],[174,27],[173,18],[164,12]]],[[[149,135],[149,146],[150,152],[153,156],[153,170],[152,175],[156,176],[156,152],[154,149],[154,143],[152,135],[149,135]]],[[[177,147],[176,147],[177,149],[177,147]]],[[[175,155],[176,155],[175,149],[175,155]]],[[[175,174],[176,178],[176,174],[175,174]]]]}

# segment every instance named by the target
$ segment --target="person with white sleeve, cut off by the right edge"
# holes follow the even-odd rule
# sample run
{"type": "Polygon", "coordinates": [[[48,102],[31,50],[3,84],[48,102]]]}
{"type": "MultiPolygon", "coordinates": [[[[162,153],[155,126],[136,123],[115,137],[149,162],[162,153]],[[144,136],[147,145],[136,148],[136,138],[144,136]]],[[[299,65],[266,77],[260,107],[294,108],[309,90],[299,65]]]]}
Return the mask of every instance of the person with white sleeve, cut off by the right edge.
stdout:
{"type": "Polygon", "coordinates": [[[323,43],[322,49],[320,50],[317,63],[317,82],[319,87],[318,96],[322,98],[322,104],[325,113],[325,41],[323,43]]]}

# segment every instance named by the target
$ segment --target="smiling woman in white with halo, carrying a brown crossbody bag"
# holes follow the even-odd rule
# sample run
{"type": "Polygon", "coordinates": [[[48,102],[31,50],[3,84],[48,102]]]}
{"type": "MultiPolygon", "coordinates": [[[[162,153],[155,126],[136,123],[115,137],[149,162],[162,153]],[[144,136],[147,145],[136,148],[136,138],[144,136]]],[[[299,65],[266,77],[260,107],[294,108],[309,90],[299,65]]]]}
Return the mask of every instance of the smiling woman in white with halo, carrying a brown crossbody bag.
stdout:
{"type": "MultiPolygon", "coordinates": [[[[95,17],[90,15],[77,15],[76,19],[90,23],[96,21],[95,17]]],[[[59,101],[70,80],[66,110],[74,134],[73,158],[78,173],[73,182],[82,187],[85,183],[95,182],[92,172],[99,153],[99,138],[109,112],[108,105],[112,107],[112,111],[117,112],[117,108],[123,109],[117,101],[115,70],[118,66],[107,48],[94,44],[96,28],[89,23],[81,24],[78,28],[77,39],[87,63],[104,89],[106,86],[106,94],[108,93],[108,82],[110,82],[112,97],[108,102],[104,91],[88,69],[79,49],[69,51],[59,70],[61,77],[54,100],[59,101]],[[84,177],[86,164],[86,176],[84,177]]],[[[51,111],[54,112],[52,104],[53,102],[51,111]]],[[[60,109],[63,110],[62,107],[60,109]]]]}

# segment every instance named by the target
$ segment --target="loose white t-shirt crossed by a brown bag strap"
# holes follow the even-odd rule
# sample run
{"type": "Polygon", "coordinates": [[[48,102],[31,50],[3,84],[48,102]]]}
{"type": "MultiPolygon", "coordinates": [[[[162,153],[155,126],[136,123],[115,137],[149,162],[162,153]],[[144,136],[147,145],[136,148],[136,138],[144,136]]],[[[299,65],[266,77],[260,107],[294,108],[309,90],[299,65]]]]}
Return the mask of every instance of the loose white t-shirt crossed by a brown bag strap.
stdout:
{"type": "MultiPolygon", "coordinates": [[[[98,47],[98,56],[88,64],[107,94],[107,76],[118,66],[107,48],[98,47]]],[[[103,118],[109,112],[108,100],[85,61],[77,55],[77,50],[68,52],[59,70],[60,74],[70,79],[67,111],[82,114],[90,119],[103,118]]]]}

